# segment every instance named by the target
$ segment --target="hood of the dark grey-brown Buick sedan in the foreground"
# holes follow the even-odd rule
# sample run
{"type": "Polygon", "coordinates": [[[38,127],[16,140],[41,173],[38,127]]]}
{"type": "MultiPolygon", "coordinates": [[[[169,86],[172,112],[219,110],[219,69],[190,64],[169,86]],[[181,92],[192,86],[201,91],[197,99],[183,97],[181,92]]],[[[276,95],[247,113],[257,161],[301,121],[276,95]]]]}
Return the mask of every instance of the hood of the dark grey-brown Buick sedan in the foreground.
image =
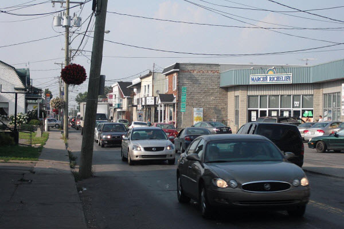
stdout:
{"type": "Polygon", "coordinates": [[[243,184],[251,181],[286,181],[301,179],[305,176],[303,170],[289,162],[222,162],[206,163],[210,170],[226,180],[236,180],[243,184]]]}

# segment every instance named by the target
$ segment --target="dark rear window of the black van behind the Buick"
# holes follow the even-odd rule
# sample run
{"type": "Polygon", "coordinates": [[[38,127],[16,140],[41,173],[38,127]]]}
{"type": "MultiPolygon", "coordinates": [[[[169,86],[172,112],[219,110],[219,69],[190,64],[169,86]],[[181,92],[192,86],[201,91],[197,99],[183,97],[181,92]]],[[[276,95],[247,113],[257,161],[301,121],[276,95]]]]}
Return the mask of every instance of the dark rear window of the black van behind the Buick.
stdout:
{"type": "Polygon", "coordinates": [[[289,125],[259,125],[257,134],[262,135],[270,140],[283,140],[287,141],[301,137],[300,131],[296,126],[289,125]]]}

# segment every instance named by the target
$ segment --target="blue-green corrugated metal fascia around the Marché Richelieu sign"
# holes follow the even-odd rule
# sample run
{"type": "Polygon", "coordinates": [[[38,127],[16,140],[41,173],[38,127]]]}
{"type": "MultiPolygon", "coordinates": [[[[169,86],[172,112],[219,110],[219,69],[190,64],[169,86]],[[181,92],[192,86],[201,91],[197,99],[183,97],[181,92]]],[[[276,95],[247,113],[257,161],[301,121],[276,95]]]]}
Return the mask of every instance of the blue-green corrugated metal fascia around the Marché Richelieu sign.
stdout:
{"type": "MultiPolygon", "coordinates": [[[[272,66],[271,66],[272,67],[272,66]]],[[[250,75],[266,74],[268,68],[233,69],[220,73],[220,87],[250,84],[250,75]]],[[[344,78],[344,59],[302,67],[278,67],[276,73],[292,73],[292,83],[317,83],[344,78]]]]}

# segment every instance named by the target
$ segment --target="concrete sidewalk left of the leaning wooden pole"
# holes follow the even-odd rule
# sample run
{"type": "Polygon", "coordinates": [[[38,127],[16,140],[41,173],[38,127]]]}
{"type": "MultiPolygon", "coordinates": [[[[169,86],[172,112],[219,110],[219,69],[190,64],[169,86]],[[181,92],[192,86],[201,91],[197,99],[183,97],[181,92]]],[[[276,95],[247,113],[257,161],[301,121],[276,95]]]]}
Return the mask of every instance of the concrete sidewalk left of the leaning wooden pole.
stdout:
{"type": "Polygon", "coordinates": [[[39,161],[0,163],[0,228],[87,228],[59,130],[39,161]],[[33,164],[34,165],[34,164],[33,164]]]}

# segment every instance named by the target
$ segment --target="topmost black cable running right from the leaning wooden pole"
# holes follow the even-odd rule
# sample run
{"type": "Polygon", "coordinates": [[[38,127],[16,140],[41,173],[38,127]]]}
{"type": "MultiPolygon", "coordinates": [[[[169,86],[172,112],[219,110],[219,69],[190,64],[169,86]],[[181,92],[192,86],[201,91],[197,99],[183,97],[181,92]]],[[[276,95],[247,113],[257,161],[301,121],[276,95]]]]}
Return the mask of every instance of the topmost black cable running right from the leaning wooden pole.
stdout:
{"type": "MultiPolygon", "coordinates": [[[[150,20],[157,20],[157,21],[167,21],[167,22],[175,22],[175,23],[184,23],[184,24],[195,24],[195,25],[208,25],[208,26],[219,26],[219,27],[231,27],[231,28],[261,28],[257,26],[236,26],[236,25],[219,25],[219,24],[208,24],[208,23],[197,23],[197,22],[186,22],[186,21],[175,21],[175,20],[168,20],[168,19],[159,19],[159,18],[149,18],[145,16],[138,16],[132,14],[125,14],[125,13],[118,13],[118,12],[110,12],[108,13],[124,15],[124,16],[131,16],[134,18],[143,18],[143,19],[150,19],[150,20]]],[[[285,25],[283,25],[285,26],[285,25]]],[[[339,29],[343,29],[344,27],[330,27],[330,28],[305,28],[305,27],[290,27],[290,28],[281,28],[281,27],[266,27],[268,29],[282,29],[282,30],[334,30],[334,31],[341,31],[339,29]]]]}

